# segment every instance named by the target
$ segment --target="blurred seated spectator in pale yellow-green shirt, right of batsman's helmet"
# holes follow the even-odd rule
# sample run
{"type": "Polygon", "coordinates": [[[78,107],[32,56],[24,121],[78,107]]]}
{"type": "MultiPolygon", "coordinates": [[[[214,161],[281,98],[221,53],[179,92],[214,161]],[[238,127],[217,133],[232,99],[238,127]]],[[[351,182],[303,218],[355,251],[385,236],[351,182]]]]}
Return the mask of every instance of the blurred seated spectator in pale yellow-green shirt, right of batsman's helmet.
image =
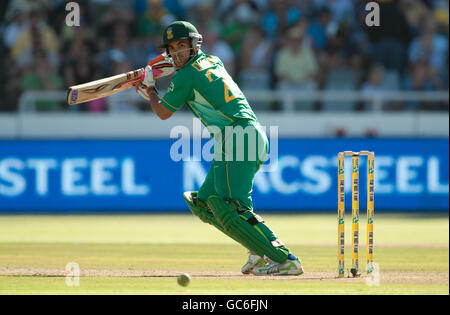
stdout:
{"type": "Polygon", "coordinates": [[[317,88],[317,60],[312,49],[303,45],[304,35],[301,28],[292,28],[276,57],[279,90],[314,91],[317,88]]]}

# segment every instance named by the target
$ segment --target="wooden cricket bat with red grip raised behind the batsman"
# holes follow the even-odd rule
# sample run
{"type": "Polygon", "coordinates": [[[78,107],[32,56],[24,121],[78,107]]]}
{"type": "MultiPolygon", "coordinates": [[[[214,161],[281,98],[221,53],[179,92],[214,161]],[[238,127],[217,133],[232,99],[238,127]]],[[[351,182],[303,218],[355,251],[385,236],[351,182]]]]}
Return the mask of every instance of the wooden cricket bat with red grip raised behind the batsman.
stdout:
{"type": "MultiPolygon", "coordinates": [[[[167,76],[175,71],[173,60],[163,53],[148,63],[152,66],[155,79],[167,76]]],[[[118,74],[100,80],[74,85],[67,91],[67,103],[69,105],[89,102],[95,99],[116,94],[131,88],[142,81],[144,68],[118,74]]]]}

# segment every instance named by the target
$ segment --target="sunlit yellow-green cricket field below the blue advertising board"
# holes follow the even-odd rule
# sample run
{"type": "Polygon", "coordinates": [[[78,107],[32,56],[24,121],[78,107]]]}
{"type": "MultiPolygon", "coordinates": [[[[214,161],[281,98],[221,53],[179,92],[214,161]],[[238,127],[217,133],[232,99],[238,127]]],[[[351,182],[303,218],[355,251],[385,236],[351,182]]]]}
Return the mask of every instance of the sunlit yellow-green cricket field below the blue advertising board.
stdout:
{"type": "MultiPolygon", "coordinates": [[[[449,294],[448,213],[376,214],[378,270],[344,279],[336,278],[334,213],[264,218],[304,275],[241,275],[246,250],[192,215],[0,216],[0,294],[449,294]],[[80,266],[79,286],[66,284],[70,262],[80,266]],[[188,287],[177,285],[183,272],[188,287]]],[[[349,216],[346,236],[349,268],[349,216]]]]}

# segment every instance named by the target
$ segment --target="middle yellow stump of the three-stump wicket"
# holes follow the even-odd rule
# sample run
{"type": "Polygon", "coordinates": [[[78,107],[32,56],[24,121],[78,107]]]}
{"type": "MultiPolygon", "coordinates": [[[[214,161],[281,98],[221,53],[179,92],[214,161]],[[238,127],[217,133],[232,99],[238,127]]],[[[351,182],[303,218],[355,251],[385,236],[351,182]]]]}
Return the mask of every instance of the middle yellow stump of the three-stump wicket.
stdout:
{"type": "Polygon", "coordinates": [[[359,273],[359,155],[352,155],[352,275],[359,273]]]}

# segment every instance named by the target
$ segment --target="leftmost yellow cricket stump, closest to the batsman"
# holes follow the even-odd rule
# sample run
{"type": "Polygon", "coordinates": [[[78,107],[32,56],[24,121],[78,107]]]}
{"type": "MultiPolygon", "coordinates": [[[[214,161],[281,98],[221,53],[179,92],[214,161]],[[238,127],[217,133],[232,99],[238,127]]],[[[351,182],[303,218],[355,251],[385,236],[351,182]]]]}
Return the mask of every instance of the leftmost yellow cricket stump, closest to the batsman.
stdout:
{"type": "Polygon", "coordinates": [[[344,191],[344,154],[338,154],[338,277],[344,277],[345,251],[345,191],[344,191]]]}

